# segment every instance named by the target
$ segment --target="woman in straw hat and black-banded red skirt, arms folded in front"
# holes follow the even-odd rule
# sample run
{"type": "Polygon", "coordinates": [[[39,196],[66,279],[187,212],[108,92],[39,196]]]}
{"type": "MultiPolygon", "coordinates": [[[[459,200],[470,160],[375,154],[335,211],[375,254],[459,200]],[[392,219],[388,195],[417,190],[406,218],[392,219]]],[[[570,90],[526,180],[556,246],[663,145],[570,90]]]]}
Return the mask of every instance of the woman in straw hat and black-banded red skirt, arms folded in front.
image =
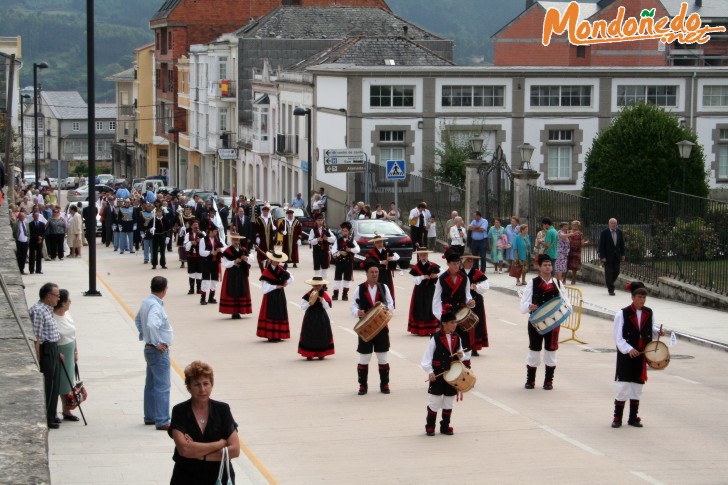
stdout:
{"type": "Polygon", "coordinates": [[[267,264],[260,275],[263,301],[260,304],[256,335],[267,338],[268,342],[280,342],[291,338],[285,288],[293,283],[293,276],[281,265],[288,261],[288,256],[280,247],[274,247],[265,256],[267,264]]]}

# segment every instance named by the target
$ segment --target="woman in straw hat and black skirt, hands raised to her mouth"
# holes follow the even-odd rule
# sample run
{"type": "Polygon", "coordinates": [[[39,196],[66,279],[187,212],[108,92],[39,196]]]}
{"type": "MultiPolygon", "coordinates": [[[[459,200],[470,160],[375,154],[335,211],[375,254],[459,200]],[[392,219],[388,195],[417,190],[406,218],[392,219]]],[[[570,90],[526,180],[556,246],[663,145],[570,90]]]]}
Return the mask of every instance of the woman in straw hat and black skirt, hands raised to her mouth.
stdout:
{"type": "Polygon", "coordinates": [[[298,340],[298,353],[313,360],[323,360],[334,354],[334,334],[327,311],[331,309],[331,298],[324,291],[329,282],[321,276],[306,280],[313,288],[301,298],[301,310],[306,310],[301,323],[301,337],[298,340]],[[311,303],[313,302],[313,303],[311,303]]]}

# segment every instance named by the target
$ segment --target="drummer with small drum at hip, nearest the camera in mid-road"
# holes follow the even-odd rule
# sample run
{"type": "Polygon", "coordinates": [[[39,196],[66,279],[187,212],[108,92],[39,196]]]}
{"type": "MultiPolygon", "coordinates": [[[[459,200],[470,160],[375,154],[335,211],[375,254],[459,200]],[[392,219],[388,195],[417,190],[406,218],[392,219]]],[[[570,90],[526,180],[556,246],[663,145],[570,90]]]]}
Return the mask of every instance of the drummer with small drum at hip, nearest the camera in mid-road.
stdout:
{"type": "Polygon", "coordinates": [[[455,333],[457,320],[455,314],[450,311],[450,305],[443,305],[443,313],[440,323],[440,331],[430,337],[427,350],[422,356],[422,368],[429,374],[429,387],[427,392],[430,400],[427,403],[427,421],[425,433],[427,436],[435,436],[435,422],[437,412],[442,409],[442,421],[440,421],[440,433],[453,435],[454,430],[450,427],[452,415],[453,398],[457,389],[445,381],[444,374],[450,370],[450,364],[455,360],[462,360],[463,346],[460,337],[455,333]],[[457,357],[457,359],[456,359],[457,357]]]}

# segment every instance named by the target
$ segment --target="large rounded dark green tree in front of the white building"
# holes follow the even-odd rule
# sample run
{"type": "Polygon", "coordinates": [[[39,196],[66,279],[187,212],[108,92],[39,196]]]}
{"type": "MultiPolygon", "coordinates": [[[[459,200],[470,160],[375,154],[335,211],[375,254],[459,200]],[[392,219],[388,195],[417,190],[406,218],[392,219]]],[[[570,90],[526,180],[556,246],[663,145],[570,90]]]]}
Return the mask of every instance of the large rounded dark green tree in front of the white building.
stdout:
{"type": "Polygon", "coordinates": [[[623,108],[594,139],[585,164],[585,197],[591,187],[597,187],[666,201],[669,190],[682,190],[683,170],[685,192],[708,195],[708,173],[697,135],[680,126],[673,114],[652,104],[623,108]],[[680,158],[676,145],[681,140],[695,143],[687,162],[680,158]]]}

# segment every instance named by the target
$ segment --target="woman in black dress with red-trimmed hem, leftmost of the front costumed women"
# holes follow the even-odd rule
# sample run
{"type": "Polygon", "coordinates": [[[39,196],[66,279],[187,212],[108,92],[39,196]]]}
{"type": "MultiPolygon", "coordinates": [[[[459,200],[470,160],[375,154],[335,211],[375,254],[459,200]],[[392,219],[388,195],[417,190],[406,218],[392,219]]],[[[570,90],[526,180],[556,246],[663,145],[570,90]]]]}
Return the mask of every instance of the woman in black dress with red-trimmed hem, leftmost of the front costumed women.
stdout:
{"type": "Polygon", "coordinates": [[[250,264],[255,257],[248,254],[248,248],[241,244],[245,236],[228,235],[230,246],[222,252],[222,267],[225,274],[220,291],[220,313],[232,315],[233,320],[240,314],[253,313],[250,301],[250,264]]]}

